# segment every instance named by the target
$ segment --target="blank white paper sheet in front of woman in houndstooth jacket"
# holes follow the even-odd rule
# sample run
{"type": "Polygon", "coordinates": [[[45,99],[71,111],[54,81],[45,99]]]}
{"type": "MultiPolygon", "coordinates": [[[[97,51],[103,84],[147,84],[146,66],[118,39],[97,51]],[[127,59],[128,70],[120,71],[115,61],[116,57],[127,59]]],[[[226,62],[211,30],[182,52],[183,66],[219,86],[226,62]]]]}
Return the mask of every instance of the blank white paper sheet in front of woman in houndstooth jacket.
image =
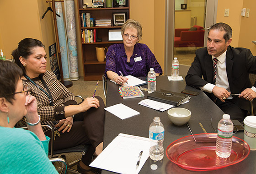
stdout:
{"type": "Polygon", "coordinates": [[[128,106],[125,106],[122,103],[119,103],[110,107],[106,107],[105,110],[121,118],[122,120],[125,118],[133,117],[134,115],[140,114],[138,111],[135,111],[134,109],[128,106]]]}

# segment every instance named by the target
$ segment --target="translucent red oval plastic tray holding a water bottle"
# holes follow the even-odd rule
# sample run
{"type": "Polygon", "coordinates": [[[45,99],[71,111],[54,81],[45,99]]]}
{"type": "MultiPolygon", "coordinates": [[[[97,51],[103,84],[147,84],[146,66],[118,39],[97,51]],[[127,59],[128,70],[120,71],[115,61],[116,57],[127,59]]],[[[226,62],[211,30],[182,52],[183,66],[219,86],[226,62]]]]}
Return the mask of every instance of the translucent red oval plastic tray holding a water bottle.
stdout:
{"type": "Polygon", "coordinates": [[[177,139],[166,149],[167,157],[183,169],[192,171],[217,170],[244,160],[250,153],[249,145],[240,138],[232,138],[229,158],[215,154],[217,133],[202,133],[177,139]]]}

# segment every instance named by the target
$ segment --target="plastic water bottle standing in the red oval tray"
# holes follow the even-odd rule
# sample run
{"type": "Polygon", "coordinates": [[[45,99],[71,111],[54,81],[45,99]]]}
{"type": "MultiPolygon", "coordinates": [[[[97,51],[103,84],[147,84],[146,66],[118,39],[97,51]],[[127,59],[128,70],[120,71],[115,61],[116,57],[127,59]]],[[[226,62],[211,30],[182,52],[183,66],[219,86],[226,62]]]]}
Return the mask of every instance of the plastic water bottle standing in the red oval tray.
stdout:
{"type": "Polygon", "coordinates": [[[218,123],[218,136],[216,140],[216,154],[220,158],[228,158],[232,150],[233,123],[229,114],[223,114],[218,123]]]}

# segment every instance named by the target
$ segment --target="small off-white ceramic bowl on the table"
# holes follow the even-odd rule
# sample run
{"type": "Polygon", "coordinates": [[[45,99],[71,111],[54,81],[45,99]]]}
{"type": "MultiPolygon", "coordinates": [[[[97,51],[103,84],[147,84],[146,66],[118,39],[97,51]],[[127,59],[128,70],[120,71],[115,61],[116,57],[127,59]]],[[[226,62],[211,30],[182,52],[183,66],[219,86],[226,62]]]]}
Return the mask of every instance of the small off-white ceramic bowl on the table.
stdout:
{"type": "Polygon", "coordinates": [[[186,124],[191,117],[191,112],[182,107],[174,107],[168,110],[168,117],[177,126],[186,124]]]}

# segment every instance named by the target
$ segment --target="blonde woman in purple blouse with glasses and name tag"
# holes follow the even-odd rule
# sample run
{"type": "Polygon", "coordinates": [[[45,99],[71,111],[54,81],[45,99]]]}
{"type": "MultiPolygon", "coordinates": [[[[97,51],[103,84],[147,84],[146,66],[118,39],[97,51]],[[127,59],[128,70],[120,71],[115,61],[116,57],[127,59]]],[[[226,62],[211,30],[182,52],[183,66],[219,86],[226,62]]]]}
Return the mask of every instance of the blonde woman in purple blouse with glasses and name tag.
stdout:
{"type": "Polygon", "coordinates": [[[129,19],[121,29],[123,44],[109,46],[105,73],[112,81],[122,85],[128,78],[147,76],[149,69],[154,68],[156,75],[162,74],[162,68],[145,44],[138,43],[142,39],[142,26],[139,21],[129,19]],[[123,72],[121,76],[120,72],[123,72]]]}

